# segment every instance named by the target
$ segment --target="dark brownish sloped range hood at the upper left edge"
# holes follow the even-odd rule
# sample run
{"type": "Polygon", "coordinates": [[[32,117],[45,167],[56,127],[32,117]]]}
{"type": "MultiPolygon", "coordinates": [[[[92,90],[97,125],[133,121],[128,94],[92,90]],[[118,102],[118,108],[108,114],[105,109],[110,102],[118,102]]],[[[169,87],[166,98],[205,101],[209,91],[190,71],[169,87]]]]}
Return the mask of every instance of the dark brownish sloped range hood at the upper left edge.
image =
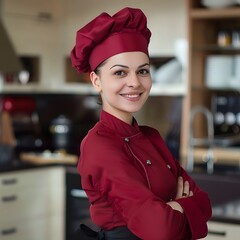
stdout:
{"type": "Polygon", "coordinates": [[[23,66],[4,27],[1,3],[0,1],[0,73],[16,73],[21,71],[23,66]]]}

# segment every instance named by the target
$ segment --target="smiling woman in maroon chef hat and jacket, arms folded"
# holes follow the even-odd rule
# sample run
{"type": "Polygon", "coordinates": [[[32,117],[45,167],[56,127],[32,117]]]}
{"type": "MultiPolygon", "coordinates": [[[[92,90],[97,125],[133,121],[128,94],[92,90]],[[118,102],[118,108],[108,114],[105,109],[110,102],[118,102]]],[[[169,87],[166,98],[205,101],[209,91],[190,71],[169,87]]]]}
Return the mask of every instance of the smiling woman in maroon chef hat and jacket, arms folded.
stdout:
{"type": "Polygon", "coordinates": [[[151,32],[140,9],[102,13],[77,32],[71,52],[102,100],[99,122],[81,143],[78,170],[93,222],[105,239],[180,240],[207,235],[208,196],[133,113],[151,89],[151,32]]]}

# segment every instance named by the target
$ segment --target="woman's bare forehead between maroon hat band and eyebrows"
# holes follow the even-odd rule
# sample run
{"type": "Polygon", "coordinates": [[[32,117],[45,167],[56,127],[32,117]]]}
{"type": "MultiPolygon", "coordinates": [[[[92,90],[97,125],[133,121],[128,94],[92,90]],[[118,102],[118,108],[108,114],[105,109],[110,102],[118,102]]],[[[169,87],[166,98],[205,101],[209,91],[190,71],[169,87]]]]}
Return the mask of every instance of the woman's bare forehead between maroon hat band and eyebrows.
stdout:
{"type": "Polygon", "coordinates": [[[128,67],[139,67],[149,63],[149,57],[143,52],[119,53],[107,59],[105,66],[124,65],[128,67]]]}

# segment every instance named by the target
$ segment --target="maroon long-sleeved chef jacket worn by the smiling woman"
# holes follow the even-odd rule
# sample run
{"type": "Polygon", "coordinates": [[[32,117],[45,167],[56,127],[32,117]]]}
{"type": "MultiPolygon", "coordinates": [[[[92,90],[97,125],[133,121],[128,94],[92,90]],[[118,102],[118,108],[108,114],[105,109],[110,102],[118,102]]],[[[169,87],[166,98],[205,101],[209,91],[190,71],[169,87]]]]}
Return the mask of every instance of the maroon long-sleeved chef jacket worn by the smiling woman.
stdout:
{"type": "Polygon", "coordinates": [[[207,235],[208,195],[173,158],[157,130],[135,119],[129,125],[102,110],[80,150],[82,187],[92,220],[102,229],[127,226],[144,240],[207,235]],[[189,181],[194,194],[176,200],[184,214],[166,204],[176,196],[178,176],[189,181]]]}

